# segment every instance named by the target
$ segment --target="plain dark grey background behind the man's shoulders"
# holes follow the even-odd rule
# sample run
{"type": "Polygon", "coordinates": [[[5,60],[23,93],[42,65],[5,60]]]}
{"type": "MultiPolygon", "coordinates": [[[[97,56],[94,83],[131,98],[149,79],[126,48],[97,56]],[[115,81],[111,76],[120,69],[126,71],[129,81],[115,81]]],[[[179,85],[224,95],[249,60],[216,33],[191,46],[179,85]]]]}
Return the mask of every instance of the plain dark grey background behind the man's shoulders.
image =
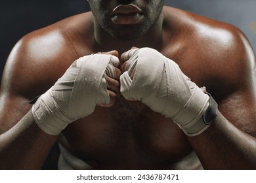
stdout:
{"type": "MultiPolygon", "coordinates": [[[[165,4],[236,25],[256,50],[256,0],[170,0],[165,4]]],[[[88,10],[86,0],[1,0],[0,79],[9,52],[20,37],[88,10]]]]}

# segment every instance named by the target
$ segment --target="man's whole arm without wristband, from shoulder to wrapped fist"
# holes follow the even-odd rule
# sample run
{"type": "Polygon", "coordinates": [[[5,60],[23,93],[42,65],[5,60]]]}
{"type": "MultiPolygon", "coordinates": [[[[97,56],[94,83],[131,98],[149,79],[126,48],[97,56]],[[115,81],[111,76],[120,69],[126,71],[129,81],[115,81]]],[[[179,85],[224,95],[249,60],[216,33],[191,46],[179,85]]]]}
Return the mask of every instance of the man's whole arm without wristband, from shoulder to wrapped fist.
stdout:
{"type": "Polygon", "coordinates": [[[114,105],[121,73],[117,54],[85,53],[79,58],[62,33],[52,29],[18,42],[7,61],[0,93],[1,168],[39,169],[62,129],[91,114],[96,105],[114,105]],[[100,80],[84,79],[89,77],[100,80]],[[37,95],[41,96],[32,107],[29,101],[37,95]]]}

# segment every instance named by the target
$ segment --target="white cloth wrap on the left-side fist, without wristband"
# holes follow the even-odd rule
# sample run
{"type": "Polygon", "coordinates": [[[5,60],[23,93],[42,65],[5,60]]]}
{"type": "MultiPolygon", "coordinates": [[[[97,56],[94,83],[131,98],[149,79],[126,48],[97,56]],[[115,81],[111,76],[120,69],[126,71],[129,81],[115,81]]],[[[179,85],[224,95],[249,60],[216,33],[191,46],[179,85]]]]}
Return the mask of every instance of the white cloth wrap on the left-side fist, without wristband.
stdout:
{"type": "Polygon", "coordinates": [[[96,105],[109,104],[105,76],[116,78],[115,56],[93,54],[77,59],[32,107],[37,125],[58,135],[68,124],[91,114],[96,105]]]}

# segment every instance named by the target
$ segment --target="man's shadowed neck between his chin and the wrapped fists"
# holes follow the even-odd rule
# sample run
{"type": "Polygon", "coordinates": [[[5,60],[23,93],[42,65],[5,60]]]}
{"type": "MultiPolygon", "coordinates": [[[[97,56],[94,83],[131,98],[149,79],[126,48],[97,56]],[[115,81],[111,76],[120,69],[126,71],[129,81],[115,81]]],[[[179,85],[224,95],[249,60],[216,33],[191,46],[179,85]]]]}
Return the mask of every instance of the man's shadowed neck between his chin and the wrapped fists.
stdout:
{"type": "Polygon", "coordinates": [[[142,37],[134,40],[121,40],[112,37],[95,22],[95,41],[99,52],[117,50],[119,54],[126,52],[135,46],[137,48],[150,47],[156,50],[161,48],[163,31],[163,13],[160,14],[156,23],[142,37]]]}

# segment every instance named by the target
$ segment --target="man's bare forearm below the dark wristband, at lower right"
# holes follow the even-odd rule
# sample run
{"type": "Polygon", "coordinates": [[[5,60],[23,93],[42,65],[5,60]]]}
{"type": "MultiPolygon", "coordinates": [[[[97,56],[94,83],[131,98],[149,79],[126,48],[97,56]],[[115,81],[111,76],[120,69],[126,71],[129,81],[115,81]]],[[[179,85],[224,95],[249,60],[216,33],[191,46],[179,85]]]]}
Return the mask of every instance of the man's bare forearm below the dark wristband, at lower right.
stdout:
{"type": "Polygon", "coordinates": [[[220,113],[206,131],[188,139],[204,169],[256,169],[256,139],[220,113]]]}

